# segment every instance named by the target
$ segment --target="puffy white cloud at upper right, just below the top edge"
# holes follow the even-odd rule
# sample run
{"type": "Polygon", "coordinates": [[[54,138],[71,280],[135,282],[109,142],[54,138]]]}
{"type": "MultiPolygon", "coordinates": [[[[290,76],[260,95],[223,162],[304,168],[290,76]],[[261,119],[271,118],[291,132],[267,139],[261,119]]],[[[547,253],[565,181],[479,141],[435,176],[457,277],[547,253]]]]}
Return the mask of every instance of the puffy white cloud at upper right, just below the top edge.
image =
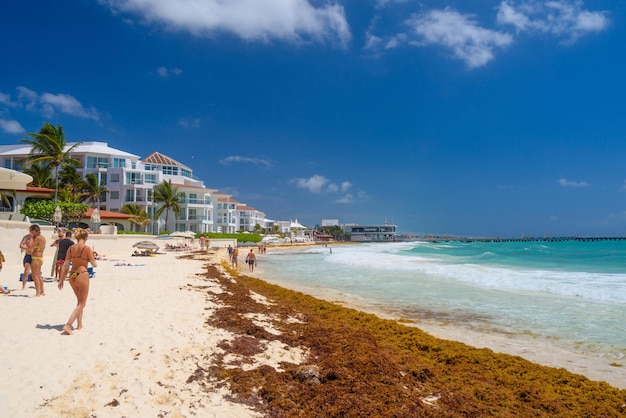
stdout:
{"type": "Polygon", "coordinates": [[[494,58],[496,48],[513,42],[508,33],[480,27],[470,15],[455,10],[431,10],[407,21],[418,45],[441,45],[465,62],[469,68],[482,67],[494,58]]]}

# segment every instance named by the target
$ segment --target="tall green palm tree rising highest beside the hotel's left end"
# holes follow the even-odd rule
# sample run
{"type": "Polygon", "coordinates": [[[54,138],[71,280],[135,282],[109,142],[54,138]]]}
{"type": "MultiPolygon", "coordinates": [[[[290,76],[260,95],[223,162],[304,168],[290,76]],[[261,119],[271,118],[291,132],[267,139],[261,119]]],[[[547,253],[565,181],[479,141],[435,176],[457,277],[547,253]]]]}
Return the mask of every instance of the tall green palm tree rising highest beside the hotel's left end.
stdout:
{"type": "Polygon", "coordinates": [[[39,133],[27,135],[32,139],[20,139],[20,142],[31,146],[30,155],[24,160],[30,164],[46,164],[54,169],[54,203],[56,203],[59,191],[59,167],[67,165],[70,161],[78,161],[71,158],[70,153],[82,142],[77,142],[66,150],[67,142],[63,127],[61,125],[55,127],[49,123],[45,123],[39,133]]]}

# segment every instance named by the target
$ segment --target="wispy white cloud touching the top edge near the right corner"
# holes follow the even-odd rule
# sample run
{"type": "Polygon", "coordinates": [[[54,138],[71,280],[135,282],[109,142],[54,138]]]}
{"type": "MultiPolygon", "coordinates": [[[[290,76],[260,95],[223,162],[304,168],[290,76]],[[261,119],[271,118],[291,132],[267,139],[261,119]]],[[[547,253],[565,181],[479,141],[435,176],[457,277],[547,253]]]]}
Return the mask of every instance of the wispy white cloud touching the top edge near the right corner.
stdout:
{"type": "Polygon", "coordinates": [[[606,12],[583,9],[583,2],[579,0],[504,0],[500,3],[497,21],[512,25],[520,32],[547,33],[566,43],[591,32],[600,32],[610,24],[606,12]]]}

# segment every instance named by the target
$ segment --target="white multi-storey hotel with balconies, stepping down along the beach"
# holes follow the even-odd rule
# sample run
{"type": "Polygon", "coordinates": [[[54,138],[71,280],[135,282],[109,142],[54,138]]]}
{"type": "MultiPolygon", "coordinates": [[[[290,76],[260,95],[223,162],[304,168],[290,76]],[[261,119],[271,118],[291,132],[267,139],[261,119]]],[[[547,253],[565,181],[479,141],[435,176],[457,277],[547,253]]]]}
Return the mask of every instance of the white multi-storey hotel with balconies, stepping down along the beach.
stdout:
{"type": "MultiPolygon", "coordinates": [[[[71,147],[74,143],[68,143],[71,147]]],[[[26,144],[0,145],[0,166],[22,170],[20,162],[30,153],[26,144]]],[[[240,230],[252,231],[256,224],[268,227],[265,214],[237,202],[231,195],[220,193],[204,186],[193,175],[193,170],[158,152],[141,160],[139,156],[111,148],[105,142],[83,142],[71,153],[81,162],[78,172],[85,177],[89,173],[98,176],[100,184],[109,192],[101,197],[100,210],[120,212],[126,204],[136,204],[148,213],[150,219],[160,204],[153,202],[153,188],[164,180],[171,180],[178,188],[180,216],[170,211],[168,225],[165,212],[151,222],[148,232],[161,230],[233,233],[240,230]]]]}

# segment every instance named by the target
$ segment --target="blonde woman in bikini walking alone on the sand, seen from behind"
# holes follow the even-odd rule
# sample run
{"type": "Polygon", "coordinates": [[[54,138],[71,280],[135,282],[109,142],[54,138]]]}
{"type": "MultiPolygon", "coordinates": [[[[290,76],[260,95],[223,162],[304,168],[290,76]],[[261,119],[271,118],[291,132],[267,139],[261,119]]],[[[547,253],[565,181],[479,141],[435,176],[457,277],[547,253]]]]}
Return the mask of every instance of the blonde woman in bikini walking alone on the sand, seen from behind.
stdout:
{"type": "Polygon", "coordinates": [[[71,264],[72,270],[69,272],[68,280],[74,290],[78,304],[70,315],[70,319],[68,319],[67,323],[63,326],[63,332],[66,334],[72,333],[72,324],[74,321],[78,321],[76,329],[83,327],[83,309],[85,309],[87,295],[89,294],[89,271],[87,271],[87,266],[91,263],[92,266],[96,267],[97,264],[93,256],[93,250],[91,247],[85,245],[87,241],[87,231],[78,228],[75,237],[77,242],[67,250],[63,270],[59,276],[59,290],[62,290],[63,282],[65,281],[71,264]]]}

